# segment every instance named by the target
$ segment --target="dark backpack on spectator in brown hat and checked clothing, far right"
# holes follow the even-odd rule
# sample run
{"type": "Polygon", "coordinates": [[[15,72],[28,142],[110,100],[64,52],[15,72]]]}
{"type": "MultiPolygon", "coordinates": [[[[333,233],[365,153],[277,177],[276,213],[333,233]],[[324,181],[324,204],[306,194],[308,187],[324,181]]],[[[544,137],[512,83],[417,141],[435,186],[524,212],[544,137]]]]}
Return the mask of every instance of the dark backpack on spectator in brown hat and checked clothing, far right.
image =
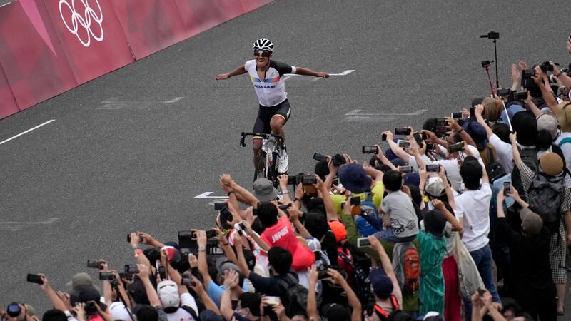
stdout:
{"type": "Polygon", "coordinates": [[[530,204],[530,210],[541,216],[543,225],[552,234],[559,232],[564,190],[565,176],[548,177],[538,173],[527,191],[527,203],[530,204]]]}

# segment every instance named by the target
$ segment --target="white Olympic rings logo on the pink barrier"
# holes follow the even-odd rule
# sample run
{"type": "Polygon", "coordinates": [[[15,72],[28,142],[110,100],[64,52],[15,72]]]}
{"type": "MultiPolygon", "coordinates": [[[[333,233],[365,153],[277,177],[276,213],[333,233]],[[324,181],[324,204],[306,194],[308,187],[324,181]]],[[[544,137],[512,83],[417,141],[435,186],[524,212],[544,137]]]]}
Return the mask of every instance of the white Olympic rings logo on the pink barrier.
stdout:
{"type": "Polygon", "coordinates": [[[103,26],[101,25],[103,22],[103,11],[101,10],[101,5],[97,0],[91,0],[91,3],[93,4],[94,1],[97,4],[98,12],[89,6],[90,0],[77,1],[81,2],[81,4],[78,4],[77,9],[81,9],[82,5],[84,7],[83,14],[79,14],[76,10],[76,0],[71,0],[71,4],[66,0],[59,0],[59,14],[61,15],[61,20],[64,21],[69,32],[76,35],[79,42],[86,47],[89,47],[89,44],[91,44],[91,37],[96,41],[103,41],[103,26]],[[71,12],[71,26],[64,18],[64,11],[62,11],[62,8],[65,6],[67,6],[71,12]],[[92,23],[93,26],[96,24],[99,25],[99,27],[96,28],[96,31],[98,32],[94,33],[91,29],[92,23]],[[81,29],[85,29],[85,32],[81,31],[81,29]]]}

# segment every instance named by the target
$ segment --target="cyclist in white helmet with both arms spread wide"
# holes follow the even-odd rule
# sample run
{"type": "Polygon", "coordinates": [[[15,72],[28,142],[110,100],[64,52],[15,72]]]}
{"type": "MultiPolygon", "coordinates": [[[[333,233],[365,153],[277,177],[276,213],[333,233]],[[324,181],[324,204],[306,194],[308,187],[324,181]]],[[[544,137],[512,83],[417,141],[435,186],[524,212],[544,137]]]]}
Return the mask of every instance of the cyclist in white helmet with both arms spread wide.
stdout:
{"type": "MultiPolygon", "coordinates": [[[[273,44],[266,38],[254,41],[252,50],[254,51],[255,59],[246,61],[245,64],[229,73],[222,73],[216,76],[216,80],[228,79],[244,73],[250,75],[250,80],[253,83],[254,91],[258,95],[260,103],[253,132],[274,133],[283,137],[281,152],[278,156],[278,172],[285,173],[288,171],[288,155],[285,151],[283,126],[290,118],[291,108],[282,76],[285,73],[295,73],[303,76],[329,78],[329,73],[315,72],[308,68],[294,67],[287,63],[272,60],[273,44]]],[[[258,152],[262,148],[262,138],[254,136],[252,140],[254,165],[256,165],[258,152]]]]}

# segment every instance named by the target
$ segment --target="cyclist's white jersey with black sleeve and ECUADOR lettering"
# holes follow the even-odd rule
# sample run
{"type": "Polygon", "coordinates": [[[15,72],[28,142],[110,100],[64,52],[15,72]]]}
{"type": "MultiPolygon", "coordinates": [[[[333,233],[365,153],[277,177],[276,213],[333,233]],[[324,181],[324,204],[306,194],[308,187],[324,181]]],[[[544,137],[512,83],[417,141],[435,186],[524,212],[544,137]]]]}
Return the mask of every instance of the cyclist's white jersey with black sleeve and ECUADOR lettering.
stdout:
{"type": "Polygon", "coordinates": [[[285,92],[285,82],[283,81],[282,76],[285,73],[295,73],[294,66],[271,60],[270,68],[266,71],[265,79],[260,79],[258,76],[258,71],[256,71],[256,60],[246,61],[244,68],[248,71],[248,75],[250,76],[256,95],[258,95],[258,101],[260,101],[261,106],[273,107],[288,98],[288,93],[285,92]]]}

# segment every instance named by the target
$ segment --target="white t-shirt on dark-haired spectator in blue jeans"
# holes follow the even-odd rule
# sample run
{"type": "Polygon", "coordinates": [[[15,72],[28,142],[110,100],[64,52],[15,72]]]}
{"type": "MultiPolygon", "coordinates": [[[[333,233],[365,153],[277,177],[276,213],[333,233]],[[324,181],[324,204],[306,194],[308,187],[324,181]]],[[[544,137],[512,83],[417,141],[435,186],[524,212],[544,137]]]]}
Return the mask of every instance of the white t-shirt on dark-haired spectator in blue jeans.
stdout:
{"type": "Polygon", "coordinates": [[[456,217],[464,218],[462,241],[469,252],[480,250],[490,241],[490,201],[492,188],[483,183],[479,190],[466,190],[455,198],[456,217]]]}

